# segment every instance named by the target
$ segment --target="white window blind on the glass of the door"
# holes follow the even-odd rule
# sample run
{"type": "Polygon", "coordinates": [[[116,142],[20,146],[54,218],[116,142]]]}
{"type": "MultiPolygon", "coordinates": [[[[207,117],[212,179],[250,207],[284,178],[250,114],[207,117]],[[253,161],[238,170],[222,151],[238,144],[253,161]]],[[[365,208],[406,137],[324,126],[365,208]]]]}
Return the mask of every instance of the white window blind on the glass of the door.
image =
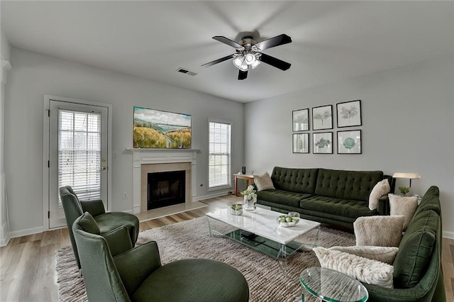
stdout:
{"type": "Polygon", "coordinates": [[[71,186],[80,200],[101,198],[100,167],[101,114],[60,109],[58,187],[71,186]]]}

